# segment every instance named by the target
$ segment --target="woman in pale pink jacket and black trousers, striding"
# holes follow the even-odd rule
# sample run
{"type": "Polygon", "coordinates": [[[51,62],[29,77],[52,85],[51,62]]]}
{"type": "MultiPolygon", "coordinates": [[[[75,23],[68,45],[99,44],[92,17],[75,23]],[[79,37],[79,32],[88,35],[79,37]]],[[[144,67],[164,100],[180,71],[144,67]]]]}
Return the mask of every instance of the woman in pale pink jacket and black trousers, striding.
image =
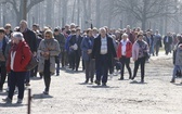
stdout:
{"type": "Polygon", "coordinates": [[[132,80],[135,78],[139,65],[141,65],[141,83],[144,83],[144,73],[145,73],[145,61],[146,54],[148,53],[147,42],[143,40],[143,35],[138,35],[136,41],[132,47],[132,59],[134,61],[134,71],[132,80]]]}

